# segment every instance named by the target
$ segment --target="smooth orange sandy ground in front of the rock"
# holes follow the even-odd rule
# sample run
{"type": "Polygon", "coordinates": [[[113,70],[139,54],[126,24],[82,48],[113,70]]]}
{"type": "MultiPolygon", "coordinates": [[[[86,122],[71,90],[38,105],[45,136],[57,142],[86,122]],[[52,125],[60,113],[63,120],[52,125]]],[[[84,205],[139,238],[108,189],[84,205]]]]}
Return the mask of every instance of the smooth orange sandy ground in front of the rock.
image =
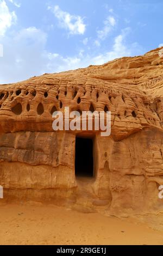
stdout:
{"type": "Polygon", "coordinates": [[[0,205],[0,245],[163,245],[163,231],[130,218],[52,205],[0,205]]]}

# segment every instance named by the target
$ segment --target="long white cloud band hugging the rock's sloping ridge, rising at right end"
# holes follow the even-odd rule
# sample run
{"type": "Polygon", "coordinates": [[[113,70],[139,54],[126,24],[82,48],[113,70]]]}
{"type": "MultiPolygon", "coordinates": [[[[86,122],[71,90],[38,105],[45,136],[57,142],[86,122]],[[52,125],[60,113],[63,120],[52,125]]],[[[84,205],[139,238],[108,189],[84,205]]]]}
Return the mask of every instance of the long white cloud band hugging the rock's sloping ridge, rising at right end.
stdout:
{"type": "Polygon", "coordinates": [[[78,55],[73,57],[63,57],[56,54],[47,65],[48,72],[60,72],[89,65],[101,65],[116,58],[141,54],[142,48],[136,42],[131,45],[126,43],[129,33],[130,28],[122,29],[121,34],[115,37],[111,50],[98,55],[86,54],[84,51],[79,51],[78,55]]]}

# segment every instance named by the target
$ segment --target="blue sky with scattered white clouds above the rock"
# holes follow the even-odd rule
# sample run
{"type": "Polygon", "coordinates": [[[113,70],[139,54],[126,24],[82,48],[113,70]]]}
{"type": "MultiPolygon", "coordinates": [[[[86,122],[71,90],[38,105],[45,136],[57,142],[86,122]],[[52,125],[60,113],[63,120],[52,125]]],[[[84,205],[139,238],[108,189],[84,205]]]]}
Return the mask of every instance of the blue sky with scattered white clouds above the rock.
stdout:
{"type": "Polygon", "coordinates": [[[163,44],[162,0],[0,0],[0,83],[163,44]]]}

